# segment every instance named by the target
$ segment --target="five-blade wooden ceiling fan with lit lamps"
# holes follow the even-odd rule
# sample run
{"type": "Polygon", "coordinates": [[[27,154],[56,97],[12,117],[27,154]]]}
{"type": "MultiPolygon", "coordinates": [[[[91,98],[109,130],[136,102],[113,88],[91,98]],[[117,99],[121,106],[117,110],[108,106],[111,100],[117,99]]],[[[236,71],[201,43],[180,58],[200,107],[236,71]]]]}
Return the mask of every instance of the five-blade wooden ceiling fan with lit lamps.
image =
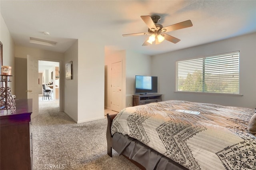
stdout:
{"type": "Polygon", "coordinates": [[[151,34],[151,36],[142,44],[142,46],[152,44],[153,42],[155,42],[155,44],[159,44],[164,40],[167,40],[172,43],[177,43],[180,41],[180,39],[165,33],[193,26],[191,20],[186,20],[184,22],[173,24],[171,26],[163,27],[161,24],[157,24],[161,19],[160,16],[140,16],[140,18],[142,18],[142,20],[148,26],[148,32],[123,34],[122,36],[140,36],[151,34]]]}

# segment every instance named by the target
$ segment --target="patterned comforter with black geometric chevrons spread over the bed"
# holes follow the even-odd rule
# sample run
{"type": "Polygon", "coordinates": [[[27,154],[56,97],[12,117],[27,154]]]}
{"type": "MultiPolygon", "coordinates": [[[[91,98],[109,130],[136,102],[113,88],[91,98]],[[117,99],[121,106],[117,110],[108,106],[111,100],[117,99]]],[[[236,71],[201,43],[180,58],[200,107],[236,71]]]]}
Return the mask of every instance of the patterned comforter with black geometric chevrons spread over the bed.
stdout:
{"type": "Polygon", "coordinates": [[[111,132],[128,134],[190,170],[255,170],[256,137],[248,131],[253,114],[254,109],[164,101],[123,109],[111,132]]]}

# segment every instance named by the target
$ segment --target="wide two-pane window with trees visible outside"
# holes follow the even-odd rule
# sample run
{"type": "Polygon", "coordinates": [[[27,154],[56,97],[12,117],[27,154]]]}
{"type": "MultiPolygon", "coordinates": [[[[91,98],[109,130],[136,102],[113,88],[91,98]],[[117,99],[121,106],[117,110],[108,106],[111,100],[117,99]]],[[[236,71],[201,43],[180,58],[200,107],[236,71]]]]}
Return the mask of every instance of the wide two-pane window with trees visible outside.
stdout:
{"type": "Polygon", "coordinates": [[[176,91],[239,94],[239,51],[176,61],[176,91]]]}

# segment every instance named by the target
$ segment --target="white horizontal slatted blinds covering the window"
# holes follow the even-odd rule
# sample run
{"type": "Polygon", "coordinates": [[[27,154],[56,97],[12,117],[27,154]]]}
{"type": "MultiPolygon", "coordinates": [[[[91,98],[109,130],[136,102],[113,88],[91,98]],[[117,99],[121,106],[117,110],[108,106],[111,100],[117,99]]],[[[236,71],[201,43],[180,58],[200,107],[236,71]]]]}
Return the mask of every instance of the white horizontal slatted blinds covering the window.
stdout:
{"type": "MultiPolygon", "coordinates": [[[[228,62],[228,60],[224,58],[224,62],[228,62]]],[[[240,94],[240,51],[233,51],[228,53],[221,53],[216,55],[208,55],[203,57],[196,57],[196,58],[183,59],[183,60],[176,61],[176,92],[241,95],[240,94]],[[230,62],[229,66],[231,66],[232,68],[232,74],[233,74],[232,77],[234,77],[232,78],[232,80],[235,81],[235,83],[233,83],[235,90],[230,89],[230,87],[232,87],[232,85],[230,84],[228,84],[226,88],[221,88],[223,87],[222,81],[225,81],[228,83],[230,81],[228,80],[226,75],[225,75],[225,79],[221,79],[221,76],[222,77],[224,76],[218,74],[218,73],[221,73],[222,71],[224,71],[224,73],[226,74],[231,73],[230,71],[227,71],[228,70],[226,66],[227,64],[225,63],[225,66],[224,66],[223,62],[220,61],[222,57],[228,57],[229,59],[231,59],[230,55],[232,55],[233,63],[230,62]],[[235,59],[233,58],[233,56],[235,56],[234,57],[235,59]],[[215,63],[213,65],[212,63],[214,61],[210,61],[210,59],[213,59],[214,61],[218,59],[217,64],[219,65],[216,65],[215,63]],[[205,63],[206,61],[208,61],[208,64],[205,63]],[[217,71],[215,69],[216,67],[218,67],[217,71]],[[207,69],[207,68],[210,68],[210,69],[207,69]],[[198,76],[200,78],[200,81],[198,80],[195,81],[194,79],[193,79],[194,81],[187,81],[188,73],[190,73],[190,76],[191,76],[192,74],[195,75],[196,72],[198,72],[198,74],[201,74],[200,76],[198,76]],[[213,73],[209,74],[210,72],[213,72],[213,73]],[[206,76],[207,73],[210,76],[206,76]],[[178,77],[179,75],[180,77],[182,77],[182,74],[184,74],[183,80],[179,79],[178,77]],[[217,76],[214,76],[213,74],[216,74],[217,76]],[[214,86],[214,83],[216,83],[217,81],[215,81],[214,83],[208,83],[208,84],[205,82],[205,81],[213,82],[216,79],[216,77],[218,77],[219,79],[218,86],[220,88],[218,91],[213,87],[210,88],[211,87],[210,85],[214,86]],[[190,86],[190,83],[194,83],[194,85],[190,86]],[[209,89],[207,89],[208,87],[207,85],[209,85],[209,89]]]]}

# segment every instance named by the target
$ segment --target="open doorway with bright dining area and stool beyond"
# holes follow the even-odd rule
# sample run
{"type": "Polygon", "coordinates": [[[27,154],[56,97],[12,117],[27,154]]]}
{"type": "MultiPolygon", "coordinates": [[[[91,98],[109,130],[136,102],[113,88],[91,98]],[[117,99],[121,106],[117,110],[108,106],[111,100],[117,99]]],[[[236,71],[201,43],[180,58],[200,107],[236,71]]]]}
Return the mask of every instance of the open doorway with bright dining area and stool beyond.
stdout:
{"type": "Polygon", "coordinates": [[[39,113],[60,111],[60,62],[38,60],[39,113]],[[43,85],[51,91],[51,97],[43,97],[43,85]]]}

